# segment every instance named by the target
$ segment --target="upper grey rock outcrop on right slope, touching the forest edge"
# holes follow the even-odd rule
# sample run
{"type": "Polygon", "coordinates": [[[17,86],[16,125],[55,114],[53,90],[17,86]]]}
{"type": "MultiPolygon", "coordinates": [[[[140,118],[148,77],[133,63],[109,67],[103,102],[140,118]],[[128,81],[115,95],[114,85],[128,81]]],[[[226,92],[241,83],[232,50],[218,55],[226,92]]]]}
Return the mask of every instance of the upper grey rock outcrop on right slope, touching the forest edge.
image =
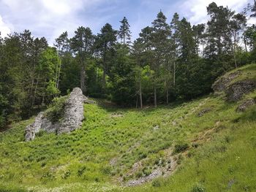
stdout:
{"type": "Polygon", "coordinates": [[[236,79],[239,75],[241,75],[241,71],[238,70],[228,74],[227,76],[220,77],[216,82],[214,82],[214,85],[212,85],[211,88],[213,88],[214,93],[225,91],[230,82],[236,79]]]}

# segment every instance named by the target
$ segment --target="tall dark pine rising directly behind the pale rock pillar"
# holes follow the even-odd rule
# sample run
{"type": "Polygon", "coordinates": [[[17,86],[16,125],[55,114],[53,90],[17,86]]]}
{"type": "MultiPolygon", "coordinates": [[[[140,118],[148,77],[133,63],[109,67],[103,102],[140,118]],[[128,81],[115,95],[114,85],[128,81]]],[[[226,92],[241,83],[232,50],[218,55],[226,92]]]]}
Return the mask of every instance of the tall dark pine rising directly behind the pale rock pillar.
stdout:
{"type": "Polygon", "coordinates": [[[80,64],[80,88],[86,93],[86,60],[91,58],[94,50],[94,35],[90,28],[80,26],[71,39],[71,48],[80,64]]]}

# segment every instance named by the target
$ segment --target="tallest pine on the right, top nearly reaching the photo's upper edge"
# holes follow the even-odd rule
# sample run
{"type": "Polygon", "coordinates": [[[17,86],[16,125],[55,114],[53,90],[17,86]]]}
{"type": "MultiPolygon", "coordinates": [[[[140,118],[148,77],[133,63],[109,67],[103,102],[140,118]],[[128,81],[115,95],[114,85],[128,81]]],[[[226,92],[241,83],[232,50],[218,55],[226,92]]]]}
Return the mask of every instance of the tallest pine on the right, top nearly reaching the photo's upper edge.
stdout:
{"type": "Polygon", "coordinates": [[[207,45],[204,55],[211,62],[212,76],[216,78],[225,70],[233,68],[233,64],[230,62],[233,58],[230,19],[234,12],[228,7],[218,7],[214,2],[208,5],[207,12],[211,19],[207,22],[207,45]]]}

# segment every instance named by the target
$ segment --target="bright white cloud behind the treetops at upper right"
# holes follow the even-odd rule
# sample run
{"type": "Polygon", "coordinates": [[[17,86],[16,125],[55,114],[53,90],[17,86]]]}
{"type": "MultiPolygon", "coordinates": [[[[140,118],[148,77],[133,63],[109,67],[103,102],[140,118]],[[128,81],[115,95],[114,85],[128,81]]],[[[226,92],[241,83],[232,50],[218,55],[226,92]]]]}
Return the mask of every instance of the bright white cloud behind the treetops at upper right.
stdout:
{"type": "Polygon", "coordinates": [[[236,12],[241,12],[241,10],[246,7],[246,4],[250,2],[250,0],[187,0],[181,4],[180,10],[192,24],[206,23],[206,7],[213,1],[218,6],[229,7],[236,12]]]}

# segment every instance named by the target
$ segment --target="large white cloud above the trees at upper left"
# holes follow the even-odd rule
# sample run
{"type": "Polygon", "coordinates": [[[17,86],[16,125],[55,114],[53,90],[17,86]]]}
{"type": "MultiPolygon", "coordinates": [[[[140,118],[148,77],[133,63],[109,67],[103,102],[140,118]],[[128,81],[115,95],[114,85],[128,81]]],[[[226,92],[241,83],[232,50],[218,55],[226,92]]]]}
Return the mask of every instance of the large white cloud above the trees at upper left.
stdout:
{"type": "MultiPolygon", "coordinates": [[[[0,0],[0,12],[8,23],[12,23],[12,32],[29,29],[34,36],[45,36],[50,45],[53,45],[54,39],[62,32],[72,34],[78,26],[89,26],[92,21],[97,23],[96,20],[81,15],[81,12],[86,14],[102,1],[104,0],[0,0]]],[[[7,31],[7,28],[4,30],[7,31]]],[[[10,33],[10,30],[7,32],[10,33]]]]}

